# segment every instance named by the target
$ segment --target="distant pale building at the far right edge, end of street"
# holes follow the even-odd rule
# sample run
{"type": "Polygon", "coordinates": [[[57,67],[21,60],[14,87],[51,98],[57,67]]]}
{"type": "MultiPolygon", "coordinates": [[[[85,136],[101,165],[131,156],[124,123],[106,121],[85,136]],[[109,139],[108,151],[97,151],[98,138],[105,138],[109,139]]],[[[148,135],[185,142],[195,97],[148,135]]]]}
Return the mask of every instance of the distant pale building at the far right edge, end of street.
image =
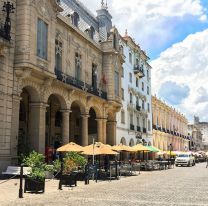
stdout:
{"type": "MultiPolygon", "coordinates": [[[[201,149],[208,150],[208,122],[200,122],[199,117],[194,117],[194,127],[202,134],[201,149]]],[[[201,144],[200,144],[201,145],[201,144]]]]}

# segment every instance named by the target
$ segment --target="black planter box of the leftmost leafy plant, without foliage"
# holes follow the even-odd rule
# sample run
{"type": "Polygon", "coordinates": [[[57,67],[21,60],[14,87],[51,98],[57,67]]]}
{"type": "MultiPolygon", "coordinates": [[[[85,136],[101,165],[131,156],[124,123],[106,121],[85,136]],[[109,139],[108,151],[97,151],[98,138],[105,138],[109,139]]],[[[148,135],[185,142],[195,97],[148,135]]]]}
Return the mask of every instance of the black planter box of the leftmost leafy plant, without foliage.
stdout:
{"type": "Polygon", "coordinates": [[[45,179],[42,182],[38,179],[33,180],[30,178],[25,178],[24,192],[27,192],[27,191],[34,192],[34,193],[44,192],[45,191],[45,179]]]}

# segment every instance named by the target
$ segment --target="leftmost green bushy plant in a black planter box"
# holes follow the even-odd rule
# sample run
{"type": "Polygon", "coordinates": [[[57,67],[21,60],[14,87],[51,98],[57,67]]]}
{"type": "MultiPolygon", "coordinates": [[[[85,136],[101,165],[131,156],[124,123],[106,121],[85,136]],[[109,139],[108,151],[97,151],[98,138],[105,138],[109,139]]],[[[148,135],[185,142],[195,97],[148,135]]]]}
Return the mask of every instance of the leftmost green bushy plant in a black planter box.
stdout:
{"type": "Polygon", "coordinates": [[[24,192],[44,192],[46,171],[54,171],[56,168],[47,165],[45,156],[35,151],[24,157],[23,164],[31,168],[30,174],[25,178],[24,192]]]}

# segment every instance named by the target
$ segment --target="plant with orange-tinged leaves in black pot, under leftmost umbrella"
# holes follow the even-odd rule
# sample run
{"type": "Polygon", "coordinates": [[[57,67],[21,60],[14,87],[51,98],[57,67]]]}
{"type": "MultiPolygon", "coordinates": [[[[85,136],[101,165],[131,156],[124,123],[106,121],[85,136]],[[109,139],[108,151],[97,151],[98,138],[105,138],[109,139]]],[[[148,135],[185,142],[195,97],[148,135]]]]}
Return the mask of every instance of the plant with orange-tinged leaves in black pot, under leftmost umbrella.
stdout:
{"type": "Polygon", "coordinates": [[[62,175],[62,184],[77,185],[77,179],[80,180],[80,172],[84,179],[84,166],[87,163],[86,159],[76,152],[68,152],[63,159],[64,168],[62,175]]]}

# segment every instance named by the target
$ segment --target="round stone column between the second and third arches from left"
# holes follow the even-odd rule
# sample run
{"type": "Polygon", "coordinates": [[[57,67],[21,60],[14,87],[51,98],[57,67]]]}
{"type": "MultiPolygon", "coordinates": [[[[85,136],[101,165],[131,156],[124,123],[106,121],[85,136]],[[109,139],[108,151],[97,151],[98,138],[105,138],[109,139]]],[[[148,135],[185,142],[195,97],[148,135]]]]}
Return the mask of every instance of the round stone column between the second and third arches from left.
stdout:
{"type": "Polygon", "coordinates": [[[62,144],[69,143],[69,113],[70,110],[61,110],[62,113],[62,144]]]}

